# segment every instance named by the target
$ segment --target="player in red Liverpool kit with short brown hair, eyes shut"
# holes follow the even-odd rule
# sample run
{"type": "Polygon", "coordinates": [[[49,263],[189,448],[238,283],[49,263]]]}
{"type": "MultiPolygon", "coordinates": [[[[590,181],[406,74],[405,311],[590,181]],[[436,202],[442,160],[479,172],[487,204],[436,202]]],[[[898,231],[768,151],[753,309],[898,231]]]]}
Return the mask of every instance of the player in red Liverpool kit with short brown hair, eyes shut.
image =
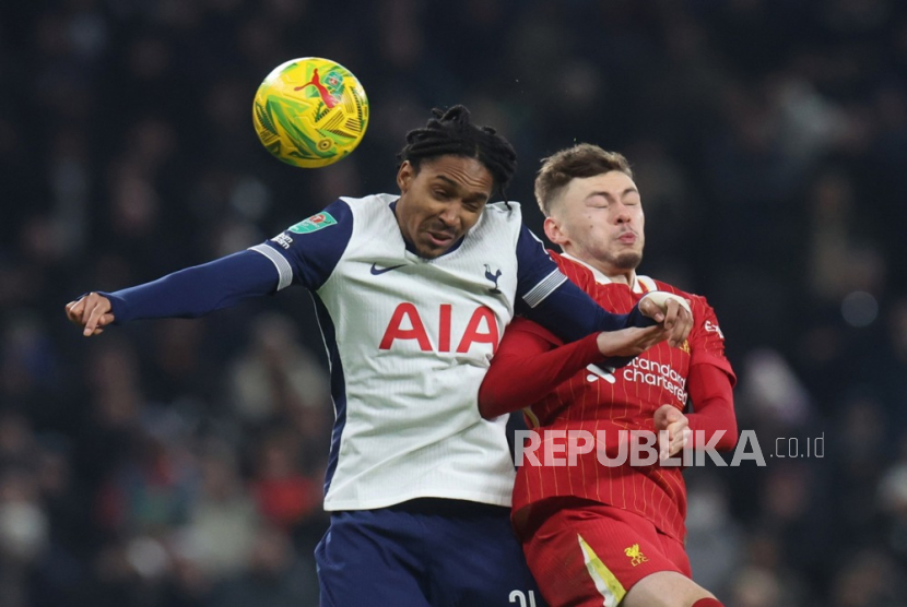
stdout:
{"type": "Polygon", "coordinates": [[[527,459],[517,475],[513,521],[530,568],[552,606],[721,605],[691,579],[686,489],[681,467],[665,462],[684,447],[737,442],[735,378],[715,312],[704,297],[636,274],[645,216],[621,154],[590,144],[554,154],[543,160],[535,198],[545,234],[563,249],[552,257],[603,308],[626,312],[646,293],[668,291],[688,301],[694,326],[682,343],[604,361],[637,354],[624,352],[623,332],[564,345],[529,320],[507,329],[482,384],[481,413],[523,408],[542,451],[561,442],[551,450],[559,460],[527,459]],[[634,430],[667,430],[658,461],[604,465],[601,452],[613,457],[634,430]],[[594,448],[570,440],[579,433],[594,436],[594,448]]]}

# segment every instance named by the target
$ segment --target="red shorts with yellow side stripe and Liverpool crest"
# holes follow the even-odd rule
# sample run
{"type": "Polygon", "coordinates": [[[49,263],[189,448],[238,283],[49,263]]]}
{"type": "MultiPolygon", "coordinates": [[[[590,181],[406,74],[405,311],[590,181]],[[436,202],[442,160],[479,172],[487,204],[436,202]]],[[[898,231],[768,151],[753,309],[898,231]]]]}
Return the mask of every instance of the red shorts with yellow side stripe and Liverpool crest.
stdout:
{"type": "Polygon", "coordinates": [[[638,514],[570,498],[530,508],[517,533],[550,605],[615,607],[646,575],[691,576],[683,544],[638,514]]]}

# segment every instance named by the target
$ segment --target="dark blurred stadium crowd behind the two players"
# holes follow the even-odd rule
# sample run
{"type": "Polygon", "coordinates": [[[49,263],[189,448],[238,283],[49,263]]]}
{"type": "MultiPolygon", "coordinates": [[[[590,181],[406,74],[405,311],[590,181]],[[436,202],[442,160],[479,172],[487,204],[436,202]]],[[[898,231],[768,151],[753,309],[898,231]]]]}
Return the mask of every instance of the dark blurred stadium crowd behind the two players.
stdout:
{"type": "Polygon", "coordinates": [[[687,472],[697,580],[733,607],[907,605],[903,2],[4,2],[0,83],[0,607],[317,605],[308,295],[90,341],[63,305],[396,191],[403,133],[456,103],[516,145],[538,233],[539,158],[624,152],[643,273],[718,312],[766,466],[687,472]],[[251,128],[308,55],[373,112],[319,170],[251,128]]]}

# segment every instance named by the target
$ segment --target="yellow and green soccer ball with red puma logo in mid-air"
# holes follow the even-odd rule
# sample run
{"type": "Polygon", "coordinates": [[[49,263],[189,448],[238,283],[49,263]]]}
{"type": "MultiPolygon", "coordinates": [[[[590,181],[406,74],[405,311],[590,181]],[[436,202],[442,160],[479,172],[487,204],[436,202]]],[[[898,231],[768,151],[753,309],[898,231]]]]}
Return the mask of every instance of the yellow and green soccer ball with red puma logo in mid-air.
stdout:
{"type": "Polygon", "coordinates": [[[318,57],[274,68],[252,105],[258,139],[284,163],[323,167],[345,158],[365,135],[368,98],[346,68],[318,57]]]}

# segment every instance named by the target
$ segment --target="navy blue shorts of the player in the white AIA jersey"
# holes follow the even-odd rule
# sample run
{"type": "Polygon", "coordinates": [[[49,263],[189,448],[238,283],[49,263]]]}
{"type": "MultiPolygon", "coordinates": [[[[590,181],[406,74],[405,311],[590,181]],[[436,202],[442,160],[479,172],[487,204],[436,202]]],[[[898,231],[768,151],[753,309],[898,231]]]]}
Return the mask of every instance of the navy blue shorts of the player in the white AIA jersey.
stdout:
{"type": "Polygon", "coordinates": [[[509,514],[447,499],[334,512],[315,550],[321,607],[544,607],[509,514]]]}

